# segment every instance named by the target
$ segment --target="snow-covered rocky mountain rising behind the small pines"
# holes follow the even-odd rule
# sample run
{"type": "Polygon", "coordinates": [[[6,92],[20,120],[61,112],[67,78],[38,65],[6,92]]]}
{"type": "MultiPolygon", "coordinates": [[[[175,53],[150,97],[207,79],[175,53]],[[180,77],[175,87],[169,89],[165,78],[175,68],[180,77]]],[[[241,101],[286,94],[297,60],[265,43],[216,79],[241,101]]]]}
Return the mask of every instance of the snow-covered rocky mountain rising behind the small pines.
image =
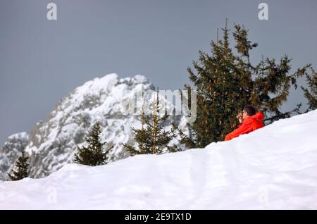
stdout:
{"type": "MultiPolygon", "coordinates": [[[[95,78],[77,87],[67,97],[58,102],[45,122],[35,125],[30,136],[23,134],[9,137],[0,149],[0,180],[6,180],[16,158],[23,147],[30,156],[30,177],[42,178],[73,161],[77,146],[85,142],[94,123],[101,125],[101,139],[108,143],[111,161],[125,158],[128,153],[122,143],[134,144],[131,127],[139,127],[138,116],[127,113],[129,101],[135,100],[135,93],[144,92],[145,99],[153,99],[154,85],[143,75],[119,78],[109,74],[95,78]],[[18,146],[17,146],[18,145],[18,146]]],[[[172,104],[161,99],[166,108],[172,104]]],[[[142,102],[139,106],[142,106],[142,102]]],[[[175,116],[174,122],[185,130],[185,116],[175,116]]],[[[169,128],[166,125],[166,128],[169,128]]],[[[175,142],[174,142],[175,143],[175,142]]]]}

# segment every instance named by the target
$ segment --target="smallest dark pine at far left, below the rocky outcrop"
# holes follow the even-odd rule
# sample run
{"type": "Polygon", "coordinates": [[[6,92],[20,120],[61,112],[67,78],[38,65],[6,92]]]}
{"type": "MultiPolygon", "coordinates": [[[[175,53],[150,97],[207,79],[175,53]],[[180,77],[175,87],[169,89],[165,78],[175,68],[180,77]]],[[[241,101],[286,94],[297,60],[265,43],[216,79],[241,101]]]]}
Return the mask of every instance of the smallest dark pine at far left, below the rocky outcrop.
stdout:
{"type": "Polygon", "coordinates": [[[8,176],[11,180],[22,180],[28,176],[28,167],[27,163],[28,157],[25,155],[25,151],[22,151],[22,156],[18,158],[18,161],[15,163],[15,167],[11,170],[11,173],[8,173],[8,176]]]}

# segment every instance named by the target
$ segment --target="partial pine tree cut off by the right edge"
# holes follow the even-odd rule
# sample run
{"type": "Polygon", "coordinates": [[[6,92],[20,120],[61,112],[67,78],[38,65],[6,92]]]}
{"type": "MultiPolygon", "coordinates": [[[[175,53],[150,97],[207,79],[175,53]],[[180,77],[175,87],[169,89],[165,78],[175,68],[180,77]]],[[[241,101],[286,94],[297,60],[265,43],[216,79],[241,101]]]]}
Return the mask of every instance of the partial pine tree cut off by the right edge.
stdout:
{"type": "Polygon", "coordinates": [[[311,74],[306,74],[306,82],[309,86],[309,89],[302,87],[304,91],[304,96],[309,101],[310,110],[317,109],[317,73],[313,68],[311,68],[311,74]]]}

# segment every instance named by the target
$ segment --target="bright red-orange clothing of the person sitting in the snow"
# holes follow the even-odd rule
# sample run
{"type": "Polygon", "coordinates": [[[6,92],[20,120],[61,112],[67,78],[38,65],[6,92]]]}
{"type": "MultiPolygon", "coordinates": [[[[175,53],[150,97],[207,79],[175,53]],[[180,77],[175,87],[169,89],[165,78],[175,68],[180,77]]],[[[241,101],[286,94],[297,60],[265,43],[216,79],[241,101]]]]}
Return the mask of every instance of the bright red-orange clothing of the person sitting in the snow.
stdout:
{"type": "Polygon", "coordinates": [[[238,137],[239,135],[247,134],[249,132],[253,132],[256,129],[264,127],[263,124],[263,113],[259,111],[258,113],[254,114],[254,116],[247,116],[242,122],[239,127],[234,130],[233,132],[229,133],[225,137],[225,141],[231,140],[234,137],[238,137]]]}

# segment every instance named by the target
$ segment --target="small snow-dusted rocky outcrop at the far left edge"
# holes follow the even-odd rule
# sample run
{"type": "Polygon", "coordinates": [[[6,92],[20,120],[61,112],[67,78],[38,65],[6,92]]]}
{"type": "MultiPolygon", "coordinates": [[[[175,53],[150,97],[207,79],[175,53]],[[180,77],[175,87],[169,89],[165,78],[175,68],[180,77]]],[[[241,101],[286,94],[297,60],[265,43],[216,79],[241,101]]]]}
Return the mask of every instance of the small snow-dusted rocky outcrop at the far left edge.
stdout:
{"type": "Polygon", "coordinates": [[[27,146],[29,136],[20,132],[8,137],[4,146],[0,148],[0,180],[8,179],[8,172],[13,168],[15,161],[22,155],[27,146]]]}

